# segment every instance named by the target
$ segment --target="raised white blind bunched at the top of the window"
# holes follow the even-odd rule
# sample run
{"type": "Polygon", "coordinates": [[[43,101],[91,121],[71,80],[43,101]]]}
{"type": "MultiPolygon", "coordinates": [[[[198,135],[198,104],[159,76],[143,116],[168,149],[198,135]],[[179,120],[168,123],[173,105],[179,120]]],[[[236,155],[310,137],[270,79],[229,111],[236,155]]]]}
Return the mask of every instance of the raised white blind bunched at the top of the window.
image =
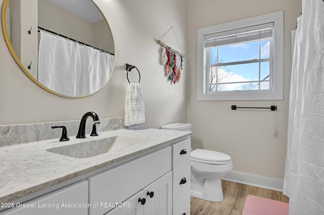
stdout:
{"type": "Polygon", "coordinates": [[[273,22],[205,35],[205,47],[235,44],[240,42],[270,38],[273,22]]]}

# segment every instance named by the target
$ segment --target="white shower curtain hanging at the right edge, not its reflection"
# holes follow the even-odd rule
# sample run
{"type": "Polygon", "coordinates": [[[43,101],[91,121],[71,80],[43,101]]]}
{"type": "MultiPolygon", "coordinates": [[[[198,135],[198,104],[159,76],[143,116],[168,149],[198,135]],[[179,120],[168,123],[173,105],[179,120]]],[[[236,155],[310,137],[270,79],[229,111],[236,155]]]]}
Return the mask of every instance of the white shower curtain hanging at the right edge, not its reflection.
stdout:
{"type": "Polygon", "coordinates": [[[303,0],[294,42],[284,194],[290,215],[324,214],[324,2],[303,0]]]}

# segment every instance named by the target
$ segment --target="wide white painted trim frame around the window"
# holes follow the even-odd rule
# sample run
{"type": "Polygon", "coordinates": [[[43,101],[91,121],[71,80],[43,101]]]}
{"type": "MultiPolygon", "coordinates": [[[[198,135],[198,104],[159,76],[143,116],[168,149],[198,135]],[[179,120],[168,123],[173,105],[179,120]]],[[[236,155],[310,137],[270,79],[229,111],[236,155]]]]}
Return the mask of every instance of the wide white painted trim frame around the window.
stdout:
{"type": "Polygon", "coordinates": [[[199,28],[197,31],[197,100],[282,100],[284,97],[284,11],[199,28]],[[273,22],[273,59],[270,90],[209,92],[205,35],[273,22]]]}

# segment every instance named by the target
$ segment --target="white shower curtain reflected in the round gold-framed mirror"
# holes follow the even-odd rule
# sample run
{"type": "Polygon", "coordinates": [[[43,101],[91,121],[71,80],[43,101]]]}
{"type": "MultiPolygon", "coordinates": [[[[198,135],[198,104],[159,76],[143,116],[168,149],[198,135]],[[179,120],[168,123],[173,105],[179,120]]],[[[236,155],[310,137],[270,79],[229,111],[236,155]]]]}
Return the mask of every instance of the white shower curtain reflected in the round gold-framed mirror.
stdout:
{"type": "Polygon", "coordinates": [[[110,58],[109,53],[41,32],[38,81],[63,95],[86,96],[108,80],[110,58]]]}

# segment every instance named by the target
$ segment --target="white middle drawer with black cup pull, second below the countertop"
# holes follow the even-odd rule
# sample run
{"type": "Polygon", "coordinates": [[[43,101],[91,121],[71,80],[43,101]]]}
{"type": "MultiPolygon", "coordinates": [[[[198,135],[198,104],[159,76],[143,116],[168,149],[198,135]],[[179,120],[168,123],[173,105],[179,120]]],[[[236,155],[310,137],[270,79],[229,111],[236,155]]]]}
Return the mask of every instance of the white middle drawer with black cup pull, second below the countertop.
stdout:
{"type": "Polygon", "coordinates": [[[173,170],[173,207],[190,191],[190,159],[173,170]]]}

